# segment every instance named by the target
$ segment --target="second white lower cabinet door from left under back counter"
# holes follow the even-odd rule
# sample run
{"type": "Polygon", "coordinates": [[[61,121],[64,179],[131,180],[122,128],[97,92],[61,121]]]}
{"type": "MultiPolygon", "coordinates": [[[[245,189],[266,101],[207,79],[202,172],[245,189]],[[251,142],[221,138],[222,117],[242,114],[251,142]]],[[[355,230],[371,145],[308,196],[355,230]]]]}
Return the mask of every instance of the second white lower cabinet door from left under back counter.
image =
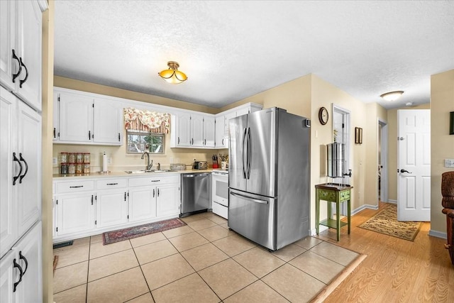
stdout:
{"type": "Polygon", "coordinates": [[[128,201],[125,190],[105,190],[96,194],[96,227],[128,222],[128,201]]]}

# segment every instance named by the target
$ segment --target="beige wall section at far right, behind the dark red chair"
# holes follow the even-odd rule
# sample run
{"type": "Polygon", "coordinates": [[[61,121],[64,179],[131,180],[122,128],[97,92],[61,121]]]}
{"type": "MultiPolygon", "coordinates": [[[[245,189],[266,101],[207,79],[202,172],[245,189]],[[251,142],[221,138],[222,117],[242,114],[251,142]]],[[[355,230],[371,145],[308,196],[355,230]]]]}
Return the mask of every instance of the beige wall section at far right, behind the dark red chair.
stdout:
{"type": "Polygon", "coordinates": [[[446,233],[441,213],[441,174],[453,171],[444,159],[454,158],[454,135],[449,135],[449,112],[454,111],[454,70],[431,76],[431,233],[446,233]]]}

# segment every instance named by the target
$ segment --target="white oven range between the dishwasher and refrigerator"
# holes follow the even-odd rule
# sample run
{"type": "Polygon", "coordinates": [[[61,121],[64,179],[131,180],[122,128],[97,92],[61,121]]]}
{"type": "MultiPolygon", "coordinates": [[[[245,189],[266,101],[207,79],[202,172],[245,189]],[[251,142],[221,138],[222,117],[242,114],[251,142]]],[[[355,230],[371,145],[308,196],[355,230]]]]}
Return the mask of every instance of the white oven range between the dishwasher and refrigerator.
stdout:
{"type": "Polygon", "coordinates": [[[213,170],[211,184],[213,213],[228,219],[228,170],[213,170]]]}

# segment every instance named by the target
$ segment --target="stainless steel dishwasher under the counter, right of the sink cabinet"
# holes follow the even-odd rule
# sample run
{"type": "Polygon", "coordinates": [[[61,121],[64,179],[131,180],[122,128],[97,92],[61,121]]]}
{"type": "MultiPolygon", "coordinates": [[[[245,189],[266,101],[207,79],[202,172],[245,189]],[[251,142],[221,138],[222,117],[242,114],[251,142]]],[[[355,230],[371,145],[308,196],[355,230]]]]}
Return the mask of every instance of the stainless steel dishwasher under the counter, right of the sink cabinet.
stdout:
{"type": "Polygon", "coordinates": [[[208,172],[182,174],[182,216],[211,209],[211,175],[208,172]]]}

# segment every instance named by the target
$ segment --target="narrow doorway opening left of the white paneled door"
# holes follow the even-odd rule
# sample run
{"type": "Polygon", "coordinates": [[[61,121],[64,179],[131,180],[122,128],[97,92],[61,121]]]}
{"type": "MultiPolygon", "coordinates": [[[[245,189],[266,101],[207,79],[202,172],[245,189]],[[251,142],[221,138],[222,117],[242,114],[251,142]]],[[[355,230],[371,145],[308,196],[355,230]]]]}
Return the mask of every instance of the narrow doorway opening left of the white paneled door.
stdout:
{"type": "MultiPolygon", "coordinates": [[[[381,202],[388,202],[388,124],[378,121],[378,194],[381,202]]],[[[378,204],[377,204],[378,205],[378,204]]]]}

